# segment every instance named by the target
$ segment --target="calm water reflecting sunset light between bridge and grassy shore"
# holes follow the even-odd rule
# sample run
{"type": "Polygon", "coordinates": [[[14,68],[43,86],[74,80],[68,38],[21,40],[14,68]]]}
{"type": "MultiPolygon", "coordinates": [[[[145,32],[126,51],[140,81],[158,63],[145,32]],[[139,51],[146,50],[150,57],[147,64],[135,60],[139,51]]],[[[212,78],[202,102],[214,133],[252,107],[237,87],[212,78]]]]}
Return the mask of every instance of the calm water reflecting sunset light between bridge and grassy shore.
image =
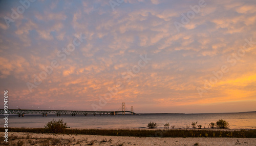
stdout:
{"type": "MultiPolygon", "coordinates": [[[[163,128],[165,123],[175,128],[191,128],[192,122],[198,122],[202,128],[207,128],[210,122],[217,122],[219,119],[227,121],[230,129],[247,129],[256,127],[256,112],[241,113],[200,113],[200,114],[141,114],[141,115],[31,115],[24,117],[9,115],[8,127],[30,127],[42,128],[52,119],[63,119],[71,128],[146,128],[148,123],[156,122],[158,128],[163,128]]],[[[3,115],[1,115],[0,126],[4,127],[3,115]]]]}

